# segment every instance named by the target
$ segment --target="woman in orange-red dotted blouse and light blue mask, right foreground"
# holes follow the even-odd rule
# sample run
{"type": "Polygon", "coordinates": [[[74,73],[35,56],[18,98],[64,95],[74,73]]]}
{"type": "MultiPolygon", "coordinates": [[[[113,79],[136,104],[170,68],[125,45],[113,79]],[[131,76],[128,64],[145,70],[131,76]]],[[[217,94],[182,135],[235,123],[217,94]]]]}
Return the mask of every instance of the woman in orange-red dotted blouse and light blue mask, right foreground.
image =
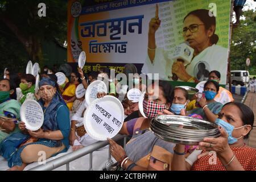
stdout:
{"type": "Polygon", "coordinates": [[[205,138],[200,142],[197,150],[203,150],[203,153],[192,166],[185,162],[184,146],[176,144],[172,160],[173,170],[256,170],[256,150],[246,146],[243,140],[248,137],[253,127],[253,111],[244,104],[229,102],[222,107],[215,123],[219,126],[221,137],[205,138]],[[207,151],[214,151],[217,155],[209,154],[207,151]],[[209,163],[210,161],[212,163],[209,163]]]}

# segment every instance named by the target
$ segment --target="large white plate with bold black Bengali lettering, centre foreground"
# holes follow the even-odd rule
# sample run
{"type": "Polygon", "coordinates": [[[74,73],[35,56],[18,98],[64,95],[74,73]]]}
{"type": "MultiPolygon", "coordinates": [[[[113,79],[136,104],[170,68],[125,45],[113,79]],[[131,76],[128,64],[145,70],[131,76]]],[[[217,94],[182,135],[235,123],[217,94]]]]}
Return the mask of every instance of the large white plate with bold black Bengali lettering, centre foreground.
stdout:
{"type": "Polygon", "coordinates": [[[121,130],[125,114],[118,98],[97,98],[86,109],[84,127],[88,135],[96,140],[113,138],[121,130]]]}

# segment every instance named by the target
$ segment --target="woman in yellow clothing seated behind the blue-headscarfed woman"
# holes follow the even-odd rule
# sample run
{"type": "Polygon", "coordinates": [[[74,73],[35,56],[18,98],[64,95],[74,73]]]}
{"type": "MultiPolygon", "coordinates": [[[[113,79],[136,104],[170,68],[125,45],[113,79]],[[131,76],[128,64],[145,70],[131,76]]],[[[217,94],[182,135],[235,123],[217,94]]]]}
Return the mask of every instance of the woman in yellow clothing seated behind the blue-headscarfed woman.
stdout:
{"type": "Polygon", "coordinates": [[[79,79],[79,73],[71,73],[71,81],[64,87],[62,94],[64,101],[67,103],[68,109],[72,110],[73,102],[76,100],[76,87],[81,83],[79,79]]]}

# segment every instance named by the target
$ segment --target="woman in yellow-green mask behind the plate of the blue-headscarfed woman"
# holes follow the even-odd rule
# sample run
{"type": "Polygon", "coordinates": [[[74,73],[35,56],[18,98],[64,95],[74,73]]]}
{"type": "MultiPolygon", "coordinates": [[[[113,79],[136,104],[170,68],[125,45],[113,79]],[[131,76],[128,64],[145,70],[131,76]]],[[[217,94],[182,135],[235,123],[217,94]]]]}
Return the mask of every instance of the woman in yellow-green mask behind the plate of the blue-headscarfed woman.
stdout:
{"type": "Polygon", "coordinates": [[[20,94],[17,95],[17,100],[23,104],[27,99],[36,100],[35,97],[35,77],[31,74],[26,74],[20,78],[19,88],[20,94]]]}

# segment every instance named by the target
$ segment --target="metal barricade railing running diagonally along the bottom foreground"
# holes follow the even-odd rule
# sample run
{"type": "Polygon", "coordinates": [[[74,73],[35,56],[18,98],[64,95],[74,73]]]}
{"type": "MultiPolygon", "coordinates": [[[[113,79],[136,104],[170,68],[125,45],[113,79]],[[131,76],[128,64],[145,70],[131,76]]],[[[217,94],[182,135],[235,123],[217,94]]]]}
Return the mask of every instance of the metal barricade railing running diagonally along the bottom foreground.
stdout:
{"type": "MultiPolygon", "coordinates": [[[[126,135],[116,135],[114,138],[112,138],[114,141],[118,141],[124,138],[123,141],[123,147],[125,148],[126,144],[126,135]]],[[[57,159],[53,159],[46,164],[41,164],[39,166],[36,166],[34,168],[29,169],[28,171],[49,171],[52,169],[56,169],[60,166],[66,165],[67,171],[69,171],[69,163],[72,162],[73,160],[79,159],[82,156],[85,156],[87,154],[90,154],[89,158],[89,171],[92,170],[92,153],[93,151],[96,151],[102,147],[105,147],[109,144],[108,141],[98,141],[96,143],[90,144],[89,146],[86,146],[84,148],[81,148],[77,151],[73,151],[69,154],[63,155],[57,159]]],[[[110,159],[110,152],[109,152],[109,159],[110,159]]]]}

